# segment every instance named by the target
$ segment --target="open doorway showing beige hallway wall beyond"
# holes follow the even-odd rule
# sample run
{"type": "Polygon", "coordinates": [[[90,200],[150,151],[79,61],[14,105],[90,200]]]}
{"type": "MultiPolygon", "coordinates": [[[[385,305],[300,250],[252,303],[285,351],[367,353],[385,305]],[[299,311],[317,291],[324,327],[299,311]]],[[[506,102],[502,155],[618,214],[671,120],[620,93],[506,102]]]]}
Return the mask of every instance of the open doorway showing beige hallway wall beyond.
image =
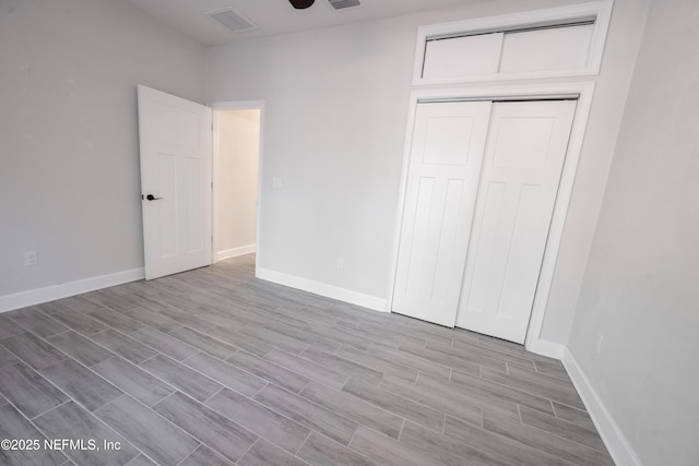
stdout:
{"type": "Polygon", "coordinates": [[[258,252],[262,103],[213,105],[212,263],[258,252]]]}

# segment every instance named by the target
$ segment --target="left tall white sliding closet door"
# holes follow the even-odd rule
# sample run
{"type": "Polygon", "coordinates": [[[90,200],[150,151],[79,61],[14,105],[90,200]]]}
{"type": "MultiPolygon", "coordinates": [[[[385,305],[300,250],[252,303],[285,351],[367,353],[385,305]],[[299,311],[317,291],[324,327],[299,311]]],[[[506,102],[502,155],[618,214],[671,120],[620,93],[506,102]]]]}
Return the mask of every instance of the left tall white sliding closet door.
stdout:
{"type": "Polygon", "coordinates": [[[454,325],[490,107],[417,105],[393,312],[454,325]]]}

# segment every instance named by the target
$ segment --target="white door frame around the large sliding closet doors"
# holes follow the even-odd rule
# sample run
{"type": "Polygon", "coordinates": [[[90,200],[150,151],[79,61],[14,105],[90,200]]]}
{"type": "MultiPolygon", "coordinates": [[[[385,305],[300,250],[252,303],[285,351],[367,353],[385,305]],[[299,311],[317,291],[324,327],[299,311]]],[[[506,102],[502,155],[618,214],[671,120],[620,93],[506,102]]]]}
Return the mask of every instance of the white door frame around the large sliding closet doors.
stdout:
{"type": "MultiPolygon", "coordinates": [[[[548,304],[548,295],[554,280],[558,249],[565,231],[568,206],[572,195],[572,188],[578,170],[578,163],[582,152],[582,143],[585,135],[588,119],[592,107],[594,82],[569,82],[554,84],[532,85],[505,85],[487,87],[451,87],[440,89],[420,89],[411,92],[407,127],[405,131],[405,144],[403,148],[403,163],[401,183],[399,191],[398,210],[395,214],[395,227],[393,234],[393,248],[391,252],[391,267],[389,276],[389,289],[387,292],[387,311],[392,312],[395,276],[398,272],[398,255],[400,248],[401,230],[403,227],[403,213],[405,208],[405,194],[407,189],[407,174],[410,168],[410,155],[413,146],[415,130],[415,117],[417,105],[426,101],[458,101],[458,100],[541,100],[552,98],[577,98],[578,105],[573,117],[568,151],[560,176],[558,194],[554,204],[548,239],[544,249],[544,259],[540,271],[538,283],[534,294],[534,303],[530,315],[524,347],[533,353],[550,356],[557,353],[545,340],[541,339],[544,316],[548,304]]],[[[562,356],[562,355],[561,355],[562,356]]]]}

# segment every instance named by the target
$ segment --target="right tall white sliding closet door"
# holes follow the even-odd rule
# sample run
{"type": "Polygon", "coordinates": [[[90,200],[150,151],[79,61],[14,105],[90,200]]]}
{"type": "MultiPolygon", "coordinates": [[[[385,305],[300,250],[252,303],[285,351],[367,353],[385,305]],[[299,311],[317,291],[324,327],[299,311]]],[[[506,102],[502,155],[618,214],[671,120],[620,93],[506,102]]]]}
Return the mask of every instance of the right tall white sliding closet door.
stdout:
{"type": "Polygon", "coordinates": [[[457,326],[523,343],[576,103],[496,103],[457,326]]]}

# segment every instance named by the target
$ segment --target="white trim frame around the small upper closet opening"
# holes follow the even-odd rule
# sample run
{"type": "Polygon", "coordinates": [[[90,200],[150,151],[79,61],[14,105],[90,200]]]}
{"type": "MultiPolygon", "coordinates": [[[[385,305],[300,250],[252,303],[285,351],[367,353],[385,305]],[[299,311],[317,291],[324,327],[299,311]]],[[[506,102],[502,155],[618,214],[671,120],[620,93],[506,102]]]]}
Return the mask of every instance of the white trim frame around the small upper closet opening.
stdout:
{"type": "Polygon", "coordinates": [[[600,72],[607,29],[612,17],[614,0],[599,0],[589,3],[524,11],[497,16],[477,17],[420,26],[417,29],[417,45],[413,68],[413,85],[491,82],[501,80],[522,80],[533,77],[564,77],[594,75],[600,72]],[[576,21],[594,21],[594,31],[590,38],[588,60],[584,67],[568,70],[528,71],[519,73],[491,73],[446,77],[423,77],[427,43],[434,39],[462,37],[487,33],[505,32],[513,28],[562,25],[576,21]]]}

